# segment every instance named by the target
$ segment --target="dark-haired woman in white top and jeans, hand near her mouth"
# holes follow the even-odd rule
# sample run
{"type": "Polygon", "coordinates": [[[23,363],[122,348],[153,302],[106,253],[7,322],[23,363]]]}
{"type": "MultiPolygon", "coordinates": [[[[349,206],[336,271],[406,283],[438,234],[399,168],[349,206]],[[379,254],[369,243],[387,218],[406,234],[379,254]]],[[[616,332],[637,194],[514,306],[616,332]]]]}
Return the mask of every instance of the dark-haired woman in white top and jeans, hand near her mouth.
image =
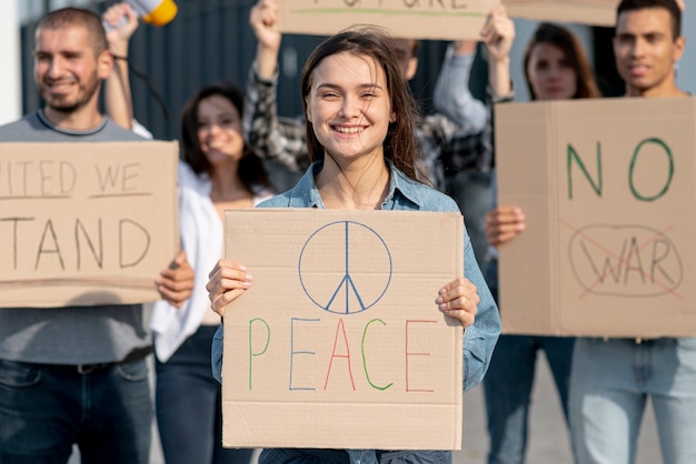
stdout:
{"type": "Polygon", "coordinates": [[[179,229],[196,271],[180,307],[155,305],[156,402],[168,464],[245,463],[251,450],[221,447],[220,384],[210,370],[210,344],[220,316],[210,310],[208,271],[222,255],[225,210],[253,208],[270,196],[259,157],[246,143],[243,93],[233,84],[200,89],[181,115],[179,229]]]}

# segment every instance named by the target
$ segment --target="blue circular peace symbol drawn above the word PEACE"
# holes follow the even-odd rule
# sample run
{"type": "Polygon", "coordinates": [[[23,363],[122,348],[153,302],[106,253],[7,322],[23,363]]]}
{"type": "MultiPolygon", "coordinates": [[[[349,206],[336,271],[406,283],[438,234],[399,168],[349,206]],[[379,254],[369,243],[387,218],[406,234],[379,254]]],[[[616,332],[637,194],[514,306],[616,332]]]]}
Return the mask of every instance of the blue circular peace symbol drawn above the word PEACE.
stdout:
{"type": "Polygon", "coordinates": [[[324,311],[356,314],[375,306],[391,282],[391,253],[374,229],[331,222],[305,242],[298,273],[307,297],[324,311]]]}

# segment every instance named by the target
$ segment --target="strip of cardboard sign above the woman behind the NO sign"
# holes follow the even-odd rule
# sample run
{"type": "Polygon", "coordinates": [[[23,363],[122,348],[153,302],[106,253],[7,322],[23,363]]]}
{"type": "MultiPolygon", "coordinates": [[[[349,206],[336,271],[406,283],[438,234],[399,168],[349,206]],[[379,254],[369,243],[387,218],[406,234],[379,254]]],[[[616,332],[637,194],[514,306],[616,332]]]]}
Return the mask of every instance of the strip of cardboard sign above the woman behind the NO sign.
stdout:
{"type": "Polygon", "coordinates": [[[503,3],[511,18],[613,27],[618,0],[504,0],[503,3]]]}

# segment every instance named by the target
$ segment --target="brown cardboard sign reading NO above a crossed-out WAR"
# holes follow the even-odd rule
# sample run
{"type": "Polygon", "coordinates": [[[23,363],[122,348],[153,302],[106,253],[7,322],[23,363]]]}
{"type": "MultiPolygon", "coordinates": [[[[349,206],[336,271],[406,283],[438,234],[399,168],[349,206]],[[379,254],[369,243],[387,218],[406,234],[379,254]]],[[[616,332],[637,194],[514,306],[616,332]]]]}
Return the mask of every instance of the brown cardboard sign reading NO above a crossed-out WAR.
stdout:
{"type": "Polygon", "coordinates": [[[505,333],[696,335],[696,99],[496,107],[505,333]]]}

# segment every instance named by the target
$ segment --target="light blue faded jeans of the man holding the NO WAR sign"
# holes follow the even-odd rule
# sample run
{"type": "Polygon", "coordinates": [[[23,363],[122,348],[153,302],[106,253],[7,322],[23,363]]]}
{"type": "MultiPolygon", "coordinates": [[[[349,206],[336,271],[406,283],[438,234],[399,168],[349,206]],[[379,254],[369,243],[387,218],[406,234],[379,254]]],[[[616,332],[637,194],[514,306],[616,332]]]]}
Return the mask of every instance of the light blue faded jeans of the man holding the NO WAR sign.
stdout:
{"type": "Polygon", "coordinates": [[[577,339],[569,412],[579,464],[633,464],[648,396],[663,462],[696,463],[696,339],[577,339]]]}

